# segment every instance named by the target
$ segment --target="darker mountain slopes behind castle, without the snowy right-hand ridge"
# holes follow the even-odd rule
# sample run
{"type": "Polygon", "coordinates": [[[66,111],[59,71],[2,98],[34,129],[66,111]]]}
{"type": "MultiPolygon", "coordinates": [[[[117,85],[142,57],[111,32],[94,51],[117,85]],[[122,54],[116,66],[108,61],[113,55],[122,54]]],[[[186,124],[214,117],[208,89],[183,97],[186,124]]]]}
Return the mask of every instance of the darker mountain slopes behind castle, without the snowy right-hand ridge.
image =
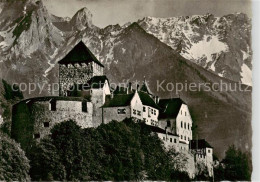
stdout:
{"type": "MultiPolygon", "coordinates": [[[[174,94],[157,92],[157,80],[165,80],[166,83],[185,83],[186,80],[188,83],[212,83],[221,80],[233,83],[183,58],[178,50],[159,41],[156,36],[148,34],[141,27],[140,22],[128,26],[111,25],[100,29],[92,25],[89,11],[85,8],[74,15],[76,18],[70,19],[50,15],[41,1],[25,1],[24,3],[32,7],[32,16],[23,12],[17,13],[17,17],[12,14],[12,18],[8,20],[13,21],[7,27],[10,30],[7,31],[8,36],[2,37],[0,43],[0,77],[2,76],[10,83],[57,82],[57,61],[81,39],[105,65],[105,72],[111,82],[141,81],[143,76],[146,76],[152,91],[161,97],[170,97],[174,94]],[[17,23],[16,20],[27,16],[30,21],[25,26],[26,28],[21,29],[18,38],[13,36],[13,30],[23,25],[22,22],[17,23]],[[42,21],[37,21],[38,19],[42,21]],[[37,33],[39,31],[43,33],[37,33]],[[54,39],[50,39],[50,35],[55,35],[54,39]],[[6,40],[9,40],[6,37],[17,38],[17,42],[11,39],[10,44],[2,46],[7,42],[6,40]],[[59,42],[56,42],[56,38],[59,42]],[[22,51],[25,47],[19,47],[19,45],[24,45],[23,41],[27,40],[31,40],[28,48],[32,51],[22,51]],[[42,40],[49,40],[50,44],[42,40]],[[50,45],[52,47],[49,47],[50,45]],[[36,48],[30,49],[30,46],[36,48]],[[19,51],[20,48],[21,51],[19,51]]],[[[21,4],[20,10],[24,11],[24,7],[25,4],[21,4]]],[[[2,12],[0,18],[4,15],[2,12]]],[[[0,31],[2,35],[2,31],[5,30],[0,31]]],[[[29,95],[29,97],[35,95],[29,95]]],[[[244,151],[250,151],[251,93],[182,92],[181,97],[190,105],[194,121],[198,124],[200,137],[207,138],[216,148],[218,155],[223,156],[224,150],[230,144],[236,144],[244,151]]]]}

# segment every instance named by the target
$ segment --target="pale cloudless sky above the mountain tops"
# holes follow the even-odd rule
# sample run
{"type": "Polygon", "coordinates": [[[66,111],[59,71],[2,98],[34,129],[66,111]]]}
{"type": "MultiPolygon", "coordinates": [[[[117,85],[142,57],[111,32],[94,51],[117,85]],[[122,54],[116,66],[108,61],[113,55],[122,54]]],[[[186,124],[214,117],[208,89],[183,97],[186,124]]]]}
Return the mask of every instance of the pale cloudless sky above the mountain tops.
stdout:
{"type": "Polygon", "coordinates": [[[173,17],[203,15],[223,16],[242,12],[252,17],[250,0],[43,0],[50,13],[72,17],[87,7],[93,14],[93,24],[105,27],[123,25],[146,16],[173,17]]]}

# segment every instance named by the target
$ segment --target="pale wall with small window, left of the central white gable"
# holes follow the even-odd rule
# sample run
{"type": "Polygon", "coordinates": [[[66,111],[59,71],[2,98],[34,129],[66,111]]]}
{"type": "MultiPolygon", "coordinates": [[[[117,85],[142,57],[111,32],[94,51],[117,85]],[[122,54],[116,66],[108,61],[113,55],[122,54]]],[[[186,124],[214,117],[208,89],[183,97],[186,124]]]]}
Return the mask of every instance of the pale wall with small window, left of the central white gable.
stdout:
{"type": "Polygon", "coordinates": [[[122,121],[131,117],[130,106],[125,107],[105,107],[103,108],[104,123],[107,124],[112,120],[122,121]]]}

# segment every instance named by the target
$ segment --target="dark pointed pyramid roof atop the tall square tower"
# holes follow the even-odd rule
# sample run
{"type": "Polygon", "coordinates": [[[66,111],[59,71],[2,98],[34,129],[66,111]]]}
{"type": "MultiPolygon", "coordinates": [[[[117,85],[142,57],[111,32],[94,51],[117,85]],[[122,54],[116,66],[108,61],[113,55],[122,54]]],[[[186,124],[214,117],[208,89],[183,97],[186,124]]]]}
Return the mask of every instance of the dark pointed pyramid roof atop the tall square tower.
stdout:
{"type": "Polygon", "coordinates": [[[92,54],[92,52],[87,48],[87,46],[80,41],[63,59],[61,59],[59,64],[75,64],[75,63],[90,63],[94,61],[98,65],[103,66],[97,58],[92,54]]]}

